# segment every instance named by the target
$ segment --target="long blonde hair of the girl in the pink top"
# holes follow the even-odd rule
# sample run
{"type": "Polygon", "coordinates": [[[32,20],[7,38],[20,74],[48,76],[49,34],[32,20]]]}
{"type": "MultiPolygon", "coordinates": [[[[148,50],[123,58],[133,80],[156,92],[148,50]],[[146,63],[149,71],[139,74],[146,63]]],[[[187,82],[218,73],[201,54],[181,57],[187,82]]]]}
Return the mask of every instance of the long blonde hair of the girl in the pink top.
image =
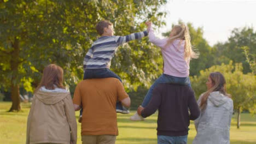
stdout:
{"type": "MultiPolygon", "coordinates": [[[[198,58],[199,53],[195,52],[193,50],[193,47],[191,46],[190,43],[190,34],[189,34],[189,28],[188,26],[184,25],[183,23],[181,25],[176,25],[172,28],[172,31],[175,31],[176,34],[174,34],[173,37],[170,37],[167,41],[166,45],[172,44],[172,42],[175,39],[182,39],[185,40],[185,46],[184,46],[184,59],[190,59],[190,58],[198,58]]],[[[180,44],[182,41],[180,41],[180,44]]]]}

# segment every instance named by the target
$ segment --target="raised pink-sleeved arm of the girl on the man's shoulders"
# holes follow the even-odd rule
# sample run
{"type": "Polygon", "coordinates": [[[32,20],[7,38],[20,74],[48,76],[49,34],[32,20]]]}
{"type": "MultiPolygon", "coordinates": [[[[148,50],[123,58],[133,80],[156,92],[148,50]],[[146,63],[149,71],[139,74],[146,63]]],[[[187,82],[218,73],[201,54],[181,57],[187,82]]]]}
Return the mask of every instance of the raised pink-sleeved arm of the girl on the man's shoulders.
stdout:
{"type": "Polygon", "coordinates": [[[154,30],[152,28],[151,22],[146,22],[146,25],[148,26],[148,38],[149,41],[156,46],[159,46],[161,48],[165,48],[165,45],[167,44],[167,38],[165,39],[159,39],[155,36],[154,30]]]}

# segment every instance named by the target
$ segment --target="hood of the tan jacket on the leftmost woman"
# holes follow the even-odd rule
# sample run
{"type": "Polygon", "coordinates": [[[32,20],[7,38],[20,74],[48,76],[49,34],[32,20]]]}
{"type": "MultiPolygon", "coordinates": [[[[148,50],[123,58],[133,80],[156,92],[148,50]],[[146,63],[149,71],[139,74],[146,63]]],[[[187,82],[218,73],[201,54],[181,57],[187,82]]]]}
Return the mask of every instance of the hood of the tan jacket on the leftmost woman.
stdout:
{"type": "Polygon", "coordinates": [[[34,94],[42,103],[53,105],[61,101],[70,95],[69,92],[46,92],[46,91],[37,91],[34,94]]]}

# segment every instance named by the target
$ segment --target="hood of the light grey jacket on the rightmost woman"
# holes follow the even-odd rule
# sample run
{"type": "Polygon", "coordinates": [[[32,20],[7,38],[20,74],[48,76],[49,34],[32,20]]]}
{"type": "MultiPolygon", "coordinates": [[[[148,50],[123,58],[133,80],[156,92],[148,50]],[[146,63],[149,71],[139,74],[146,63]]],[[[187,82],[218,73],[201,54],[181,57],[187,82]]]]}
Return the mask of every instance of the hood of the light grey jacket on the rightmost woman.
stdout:
{"type": "Polygon", "coordinates": [[[208,99],[215,105],[221,106],[228,101],[228,97],[220,92],[211,92],[208,99]]]}

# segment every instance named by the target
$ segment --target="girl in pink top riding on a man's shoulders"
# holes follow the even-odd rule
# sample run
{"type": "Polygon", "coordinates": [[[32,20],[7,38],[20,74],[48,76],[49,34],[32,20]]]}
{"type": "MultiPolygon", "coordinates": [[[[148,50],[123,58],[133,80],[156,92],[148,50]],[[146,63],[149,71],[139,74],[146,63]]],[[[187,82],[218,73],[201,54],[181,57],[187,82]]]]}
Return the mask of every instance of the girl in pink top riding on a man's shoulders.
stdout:
{"type": "MultiPolygon", "coordinates": [[[[189,29],[184,24],[172,28],[169,38],[155,37],[151,22],[148,26],[149,41],[161,48],[164,59],[164,74],[162,74],[149,88],[140,107],[146,107],[152,98],[154,87],[159,83],[178,83],[191,87],[189,80],[189,62],[191,58],[198,58],[199,54],[193,51],[190,44],[189,29]]],[[[136,112],[130,118],[132,121],[143,121],[144,118],[136,112]]]]}

